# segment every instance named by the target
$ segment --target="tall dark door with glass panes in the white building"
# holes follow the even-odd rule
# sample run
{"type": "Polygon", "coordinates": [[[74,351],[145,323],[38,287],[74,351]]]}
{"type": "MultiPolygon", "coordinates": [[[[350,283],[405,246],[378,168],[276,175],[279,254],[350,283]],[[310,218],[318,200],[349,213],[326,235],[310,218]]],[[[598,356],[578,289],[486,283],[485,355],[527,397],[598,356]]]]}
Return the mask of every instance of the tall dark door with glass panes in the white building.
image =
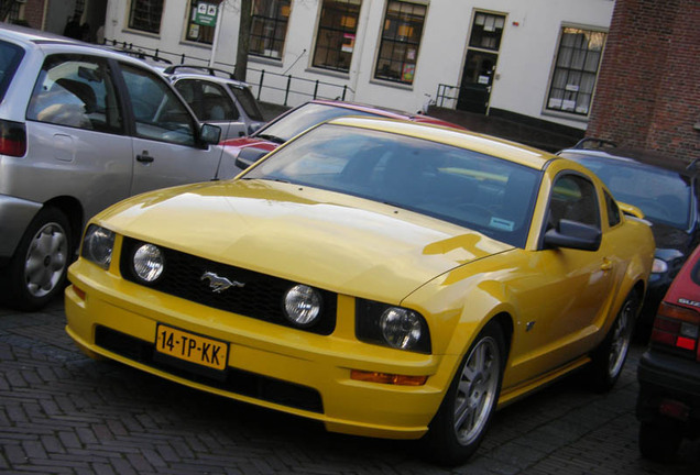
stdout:
{"type": "Polygon", "coordinates": [[[457,109],[486,113],[505,15],[475,12],[462,70],[457,109]]]}

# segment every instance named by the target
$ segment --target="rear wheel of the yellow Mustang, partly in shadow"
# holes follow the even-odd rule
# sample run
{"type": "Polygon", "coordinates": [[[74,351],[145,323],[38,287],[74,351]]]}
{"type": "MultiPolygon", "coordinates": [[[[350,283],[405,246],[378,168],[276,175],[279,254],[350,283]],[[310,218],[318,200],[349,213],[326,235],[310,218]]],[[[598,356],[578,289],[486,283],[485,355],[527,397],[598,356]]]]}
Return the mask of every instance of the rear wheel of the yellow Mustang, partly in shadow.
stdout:
{"type": "Polygon", "coordinates": [[[637,292],[632,290],[622,303],[605,339],[592,354],[591,384],[593,389],[599,393],[611,390],[622,374],[634,333],[638,307],[639,298],[637,292]]]}

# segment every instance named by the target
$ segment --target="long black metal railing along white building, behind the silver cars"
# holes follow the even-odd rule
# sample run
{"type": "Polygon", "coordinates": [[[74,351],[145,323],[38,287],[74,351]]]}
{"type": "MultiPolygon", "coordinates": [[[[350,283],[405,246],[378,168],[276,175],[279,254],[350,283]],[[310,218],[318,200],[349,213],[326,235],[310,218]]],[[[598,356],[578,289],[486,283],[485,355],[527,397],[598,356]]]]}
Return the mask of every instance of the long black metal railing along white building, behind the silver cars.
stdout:
{"type": "MultiPolygon", "coordinates": [[[[133,43],[119,42],[117,40],[106,38],[105,45],[132,56],[150,59],[154,63],[163,63],[164,66],[176,64],[193,64],[196,66],[209,65],[209,59],[188,56],[184,53],[172,53],[160,48],[138,46],[133,43]]],[[[219,60],[216,60],[215,65],[217,68],[230,70],[231,74],[236,68],[236,65],[219,60]]],[[[308,100],[308,98],[351,100],[352,97],[354,97],[354,91],[348,85],[325,82],[318,79],[306,79],[251,67],[247,70],[245,82],[248,82],[253,90],[256,89],[258,100],[278,103],[285,107],[288,107],[289,100],[294,100],[295,97],[303,98],[304,100],[302,100],[302,102],[308,100]]],[[[294,102],[297,103],[297,101],[294,102]]]]}

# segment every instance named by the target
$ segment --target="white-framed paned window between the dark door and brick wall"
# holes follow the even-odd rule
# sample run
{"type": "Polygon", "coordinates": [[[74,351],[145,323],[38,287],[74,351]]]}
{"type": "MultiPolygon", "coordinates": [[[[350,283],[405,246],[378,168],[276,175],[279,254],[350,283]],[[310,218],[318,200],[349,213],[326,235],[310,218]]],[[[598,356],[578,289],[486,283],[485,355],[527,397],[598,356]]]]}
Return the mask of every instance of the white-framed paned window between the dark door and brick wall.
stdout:
{"type": "Polygon", "coordinates": [[[588,115],[606,33],[565,26],[546,109],[588,115]]]}

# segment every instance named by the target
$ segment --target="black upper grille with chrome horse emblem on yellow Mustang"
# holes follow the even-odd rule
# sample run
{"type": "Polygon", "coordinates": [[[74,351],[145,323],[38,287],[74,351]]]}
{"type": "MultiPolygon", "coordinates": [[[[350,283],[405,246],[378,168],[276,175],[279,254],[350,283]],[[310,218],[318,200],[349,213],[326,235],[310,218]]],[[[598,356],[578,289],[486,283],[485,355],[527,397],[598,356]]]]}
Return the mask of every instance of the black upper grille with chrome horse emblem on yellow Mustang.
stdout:
{"type": "MultiPolygon", "coordinates": [[[[145,284],[136,277],[132,265],[133,253],[141,244],[143,242],[124,238],[120,261],[121,275],[124,279],[147,285],[158,291],[207,307],[293,327],[283,313],[283,299],[285,292],[299,283],[160,247],[165,256],[165,269],[155,283],[145,284]],[[205,273],[215,273],[244,286],[215,292],[209,286],[209,280],[203,279],[205,273]]],[[[317,290],[322,299],[320,318],[315,325],[304,328],[303,331],[328,335],[336,328],[337,295],[327,290],[317,290]]]]}

